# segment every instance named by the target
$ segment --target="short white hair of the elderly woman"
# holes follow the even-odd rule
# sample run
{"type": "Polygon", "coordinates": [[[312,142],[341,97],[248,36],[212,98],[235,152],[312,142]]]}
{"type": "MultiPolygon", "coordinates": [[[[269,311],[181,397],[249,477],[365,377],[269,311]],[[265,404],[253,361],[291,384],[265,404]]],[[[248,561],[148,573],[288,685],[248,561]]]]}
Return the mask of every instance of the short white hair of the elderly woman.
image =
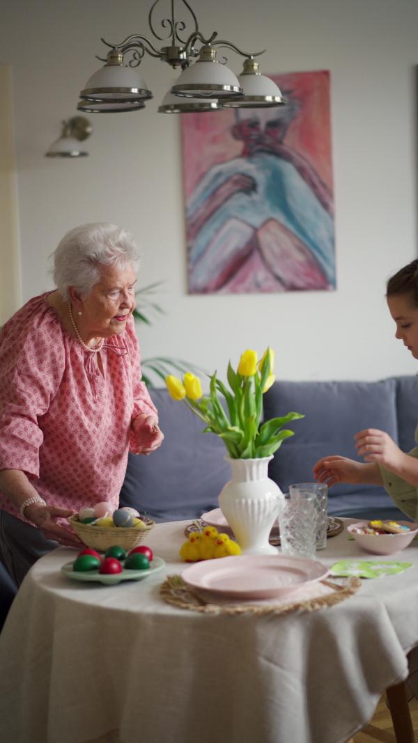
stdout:
{"type": "Polygon", "coordinates": [[[124,270],[138,264],[138,244],[129,232],[109,222],[91,222],[74,227],[60,241],[51,269],[62,299],[68,301],[68,287],[74,286],[87,296],[100,279],[103,266],[116,265],[124,270]]]}

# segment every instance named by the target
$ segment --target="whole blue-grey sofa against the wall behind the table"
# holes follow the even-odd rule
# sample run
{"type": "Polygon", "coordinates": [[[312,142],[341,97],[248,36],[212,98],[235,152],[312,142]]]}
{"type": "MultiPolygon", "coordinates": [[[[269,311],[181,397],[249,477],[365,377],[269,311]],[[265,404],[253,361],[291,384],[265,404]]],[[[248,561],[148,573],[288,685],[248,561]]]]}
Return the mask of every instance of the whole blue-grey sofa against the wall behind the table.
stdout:
{"type": "MultiPolygon", "coordinates": [[[[147,513],[157,522],[196,519],[218,507],[218,495],[230,479],[225,445],[202,434],[200,419],[167,390],[151,391],[165,438],[149,457],[129,454],[120,503],[147,513]]],[[[365,428],[390,434],[403,451],[414,447],[418,421],[417,377],[379,382],[280,381],[264,395],[266,420],[289,411],[305,418],[289,424],[295,436],[283,442],[269,466],[269,476],[283,493],[296,482],[313,481],[312,467],[332,454],[358,459],[354,435],[365,428]]],[[[355,518],[405,516],[383,487],[335,485],[329,489],[329,514],[355,518]]]]}

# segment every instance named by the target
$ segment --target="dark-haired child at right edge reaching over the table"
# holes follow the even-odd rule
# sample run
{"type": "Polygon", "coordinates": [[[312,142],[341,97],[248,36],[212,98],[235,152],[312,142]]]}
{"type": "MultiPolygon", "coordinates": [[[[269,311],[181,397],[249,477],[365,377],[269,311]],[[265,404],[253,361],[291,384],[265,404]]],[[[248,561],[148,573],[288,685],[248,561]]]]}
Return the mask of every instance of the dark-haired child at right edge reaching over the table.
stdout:
{"type": "MultiPolygon", "coordinates": [[[[418,259],[389,279],[386,299],[396,322],[396,338],[418,360],[418,259]]],[[[370,464],[324,457],[313,468],[315,479],[329,487],[338,482],[383,484],[396,505],[417,521],[418,447],[405,454],[387,433],[374,428],[359,431],[354,438],[358,455],[370,464]]],[[[418,426],[415,440],[418,443],[418,426]]]]}

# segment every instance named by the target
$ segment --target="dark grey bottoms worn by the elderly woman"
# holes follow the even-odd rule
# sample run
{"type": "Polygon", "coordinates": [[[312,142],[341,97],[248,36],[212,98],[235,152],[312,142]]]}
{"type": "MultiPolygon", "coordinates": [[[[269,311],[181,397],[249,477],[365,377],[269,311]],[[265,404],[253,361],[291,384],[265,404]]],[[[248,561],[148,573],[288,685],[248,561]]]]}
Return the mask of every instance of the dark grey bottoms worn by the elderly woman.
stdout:
{"type": "Polygon", "coordinates": [[[1,552],[4,564],[18,587],[33,563],[59,546],[53,539],[46,539],[36,526],[0,510],[1,552]]]}

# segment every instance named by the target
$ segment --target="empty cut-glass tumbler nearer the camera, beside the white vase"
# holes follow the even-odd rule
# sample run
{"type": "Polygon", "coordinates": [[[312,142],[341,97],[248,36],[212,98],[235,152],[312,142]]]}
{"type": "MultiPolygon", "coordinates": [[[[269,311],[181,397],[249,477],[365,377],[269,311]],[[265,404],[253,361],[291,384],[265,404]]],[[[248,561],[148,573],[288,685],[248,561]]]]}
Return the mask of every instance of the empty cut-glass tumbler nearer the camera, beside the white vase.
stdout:
{"type": "Polygon", "coordinates": [[[315,559],[315,494],[284,493],[278,504],[282,554],[315,559]]]}

